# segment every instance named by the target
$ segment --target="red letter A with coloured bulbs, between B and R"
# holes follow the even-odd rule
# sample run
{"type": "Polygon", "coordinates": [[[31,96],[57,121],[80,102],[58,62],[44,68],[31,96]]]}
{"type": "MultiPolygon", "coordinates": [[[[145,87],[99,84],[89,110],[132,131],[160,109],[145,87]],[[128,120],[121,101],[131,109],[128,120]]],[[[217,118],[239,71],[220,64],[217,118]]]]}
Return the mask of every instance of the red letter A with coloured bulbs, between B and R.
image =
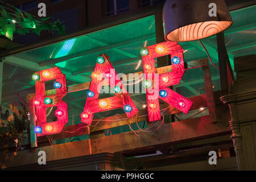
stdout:
{"type": "Polygon", "coordinates": [[[98,57],[96,67],[92,73],[92,82],[87,92],[84,111],[81,113],[81,122],[90,125],[94,113],[118,108],[123,108],[128,118],[138,113],[137,107],[131,100],[109,58],[104,54],[98,57]],[[115,96],[98,100],[103,81],[107,81],[107,83],[104,82],[104,85],[109,84],[110,88],[114,90],[115,96]]]}

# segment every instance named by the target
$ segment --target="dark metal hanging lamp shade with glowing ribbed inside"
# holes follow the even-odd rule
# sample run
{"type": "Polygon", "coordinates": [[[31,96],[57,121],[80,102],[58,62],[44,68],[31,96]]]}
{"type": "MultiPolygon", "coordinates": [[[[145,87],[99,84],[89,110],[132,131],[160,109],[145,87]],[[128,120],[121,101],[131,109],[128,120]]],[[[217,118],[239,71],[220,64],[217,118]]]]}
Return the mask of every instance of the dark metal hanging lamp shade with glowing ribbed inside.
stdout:
{"type": "Polygon", "coordinates": [[[233,22],[224,0],[166,0],[163,23],[166,40],[187,42],[224,31],[233,22]]]}

